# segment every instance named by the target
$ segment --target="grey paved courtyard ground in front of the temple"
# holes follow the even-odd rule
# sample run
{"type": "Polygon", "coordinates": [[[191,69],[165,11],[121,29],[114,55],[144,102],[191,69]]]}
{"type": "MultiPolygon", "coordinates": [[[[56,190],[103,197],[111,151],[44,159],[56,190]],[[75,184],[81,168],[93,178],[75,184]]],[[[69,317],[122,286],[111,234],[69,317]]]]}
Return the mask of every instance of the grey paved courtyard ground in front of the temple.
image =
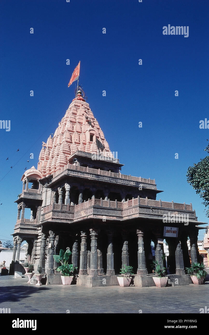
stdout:
{"type": "Polygon", "coordinates": [[[0,276],[0,308],[10,308],[11,313],[194,314],[209,308],[209,276],[204,285],[164,288],[34,286],[27,280],[0,276]]]}

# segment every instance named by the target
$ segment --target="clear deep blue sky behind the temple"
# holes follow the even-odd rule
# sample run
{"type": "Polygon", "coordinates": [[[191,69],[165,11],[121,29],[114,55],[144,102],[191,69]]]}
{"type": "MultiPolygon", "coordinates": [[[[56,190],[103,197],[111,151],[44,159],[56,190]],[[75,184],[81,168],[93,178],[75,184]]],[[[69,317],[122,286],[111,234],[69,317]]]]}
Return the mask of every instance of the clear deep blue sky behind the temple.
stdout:
{"type": "Polygon", "coordinates": [[[192,202],[208,222],[186,181],[209,138],[199,128],[209,119],[208,10],[205,0],[1,2],[0,119],[11,121],[9,132],[0,129],[1,178],[8,173],[0,182],[1,240],[11,239],[24,168],[37,167],[42,141],[74,98],[67,84],[79,61],[80,83],[122,173],[155,178],[164,190],[157,199],[192,202]],[[168,24],[189,26],[189,37],[163,35],[168,24]]]}

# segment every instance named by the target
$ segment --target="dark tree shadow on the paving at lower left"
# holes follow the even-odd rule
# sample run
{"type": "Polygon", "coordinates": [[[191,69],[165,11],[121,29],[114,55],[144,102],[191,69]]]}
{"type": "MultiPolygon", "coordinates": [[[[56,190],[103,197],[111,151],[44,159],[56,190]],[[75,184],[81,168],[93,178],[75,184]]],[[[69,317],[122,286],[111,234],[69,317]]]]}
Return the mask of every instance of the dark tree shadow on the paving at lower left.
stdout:
{"type": "Polygon", "coordinates": [[[24,298],[28,298],[37,291],[49,290],[50,287],[36,287],[36,286],[4,286],[0,287],[0,303],[3,302],[18,302],[24,298]]]}

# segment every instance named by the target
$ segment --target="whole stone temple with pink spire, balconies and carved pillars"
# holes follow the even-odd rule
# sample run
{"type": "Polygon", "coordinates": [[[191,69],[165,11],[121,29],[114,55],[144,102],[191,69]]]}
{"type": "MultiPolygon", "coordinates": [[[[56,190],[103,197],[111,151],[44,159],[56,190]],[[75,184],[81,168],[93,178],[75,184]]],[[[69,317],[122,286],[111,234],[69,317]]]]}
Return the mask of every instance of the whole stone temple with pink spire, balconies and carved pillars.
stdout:
{"type": "Polygon", "coordinates": [[[169,281],[191,282],[185,267],[190,256],[199,260],[198,224],[203,224],[192,204],[156,200],[162,191],[155,180],[123,175],[123,164],[114,156],[79,90],[54,136],[43,142],[37,169],[32,166],[21,178],[13,273],[19,268],[20,245],[27,241],[25,258],[35,271],[42,268],[46,284],[61,284],[53,255],[68,247],[77,285],[118,285],[116,275],[122,265],[130,265],[135,286],[153,286],[151,242],[155,259],[161,260],[165,239],[169,281]],[[25,208],[31,210],[30,219],[24,217],[25,208]]]}

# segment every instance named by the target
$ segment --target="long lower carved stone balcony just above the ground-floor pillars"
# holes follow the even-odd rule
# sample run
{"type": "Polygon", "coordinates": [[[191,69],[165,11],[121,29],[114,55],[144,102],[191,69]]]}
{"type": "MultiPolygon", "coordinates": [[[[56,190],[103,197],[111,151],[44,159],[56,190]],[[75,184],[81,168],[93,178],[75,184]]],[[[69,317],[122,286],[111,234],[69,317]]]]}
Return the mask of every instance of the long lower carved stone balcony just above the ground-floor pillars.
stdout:
{"type": "Polygon", "coordinates": [[[188,215],[197,224],[192,204],[181,204],[148,198],[136,198],[126,202],[90,199],[79,205],[51,204],[42,210],[41,223],[77,222],[85,219],[127,220],[132,218],[163,219],[163,215],[188,215]]]}

